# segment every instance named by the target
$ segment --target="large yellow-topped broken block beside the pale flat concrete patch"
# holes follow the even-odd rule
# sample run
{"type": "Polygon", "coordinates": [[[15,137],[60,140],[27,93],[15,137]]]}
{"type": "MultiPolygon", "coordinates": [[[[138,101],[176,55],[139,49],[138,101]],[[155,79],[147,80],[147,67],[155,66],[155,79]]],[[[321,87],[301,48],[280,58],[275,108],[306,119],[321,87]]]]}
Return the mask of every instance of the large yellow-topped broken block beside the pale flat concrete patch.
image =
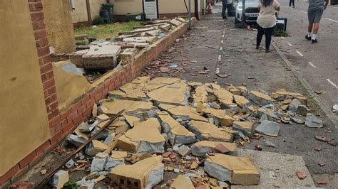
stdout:
{"type": "Polygon", "coordinates": [[[220,153],[207,157],[204,170],[217,180],[229,181],[235,185],[260,183],[260,172],[249,157],[228,156],[220,153]]]}

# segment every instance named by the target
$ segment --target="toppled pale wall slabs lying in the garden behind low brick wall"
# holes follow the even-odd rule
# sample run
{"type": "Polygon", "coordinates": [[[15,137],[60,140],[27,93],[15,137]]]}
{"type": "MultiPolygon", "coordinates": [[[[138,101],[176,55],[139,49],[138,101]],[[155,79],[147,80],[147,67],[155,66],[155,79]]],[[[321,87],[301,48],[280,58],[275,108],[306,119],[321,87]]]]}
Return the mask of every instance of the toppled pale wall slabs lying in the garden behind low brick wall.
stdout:
{"type": "Polygon", "coordinates": [[[74,53],[53,54],[52,61],[70,60],[77,68],[85,70],[110,70],[132,63],[141,49],[167,36],[185,22],[185,18],[150,21],[133,31],[121,32],[116,38],[93,40],[89,45],[78,46],[78,51],[74,53]]]}

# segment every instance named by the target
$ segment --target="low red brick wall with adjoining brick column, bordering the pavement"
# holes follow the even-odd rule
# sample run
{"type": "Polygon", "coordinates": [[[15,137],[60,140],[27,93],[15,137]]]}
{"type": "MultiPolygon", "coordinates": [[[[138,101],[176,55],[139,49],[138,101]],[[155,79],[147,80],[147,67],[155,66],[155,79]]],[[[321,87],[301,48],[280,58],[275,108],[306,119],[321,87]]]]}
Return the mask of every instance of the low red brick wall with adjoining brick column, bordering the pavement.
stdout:
{"type": "MultiPolygon", "coordinates": [[[[29,0],[31,4],[37,4],[35,1],[41,0],[29,0]]],[[[33,16],[35,13],[32,13],[32,21],[34,21],[33,16]]],[[[43,14],[42,17],[43,18],[43,14]]],[[[197,20],[193,18],[192,24],[197,20]]],[[[41,28],[37,27],[34,29],[36,33],[39,33],[41,28]]],[[[51,66],[51,57],[46,55],[49,53],[48,46],[40,46],[40,41],[43,45],[43,41],[46,40],[46,34],[37,35],[36,34],[36,48],[39,54],[39,62],[41,65],[41,77],[43,81],[43,89],[45,90],[46,97],[46,108],[48,110],[48,119],[49,126],[51,128],[51,138],[46,141],[44,144],[36,148],[35,151],[26,156],[22,161],[16,164],[11,170],[0,177],[0,185],[6,182],[13,182],[15,178],[19,177],[28,168],[34,166],[34,164],[41,160],[43,156],[51,151],[56,145],[60,144],[63,139],[71,134],[76,127],[81,124],[82,121],[86,121],[88,117],[91,116],[93,104],[98,102],[100,99],[106,97],[108,91],[116,90],[118,87],[130,82],[140,75],[142,70],[147,67],[155,58],[157,58],[160,53],[163,53],[176,38],[181,36],[185,31],[188,30],[188,23],[175,28],[168,36],[161,38],[159,41],[156,41],[152,45],[149,45],[147,48],[140,50],[140,53],[136,55],[135,62],[131,65],[125,65],[120,70],[111,70],[107,72],[106,75],[103,75],[105,80],[101,79],[101,82],[96,82],[96,88],[88,92],[88,94],[83,95],[80,99],[77,99],[68,109],[65,109],[59,112],[58,102],[56,98],[56,88],[54,85],[53,79],[53,70],[51,66]],[[39,43],[39,44],[38,44],[39,43]],[[21,166],[29,165],[29,166],[21,166]]],[[[102,78],[102,77],[101,77],[102,78]]]]}

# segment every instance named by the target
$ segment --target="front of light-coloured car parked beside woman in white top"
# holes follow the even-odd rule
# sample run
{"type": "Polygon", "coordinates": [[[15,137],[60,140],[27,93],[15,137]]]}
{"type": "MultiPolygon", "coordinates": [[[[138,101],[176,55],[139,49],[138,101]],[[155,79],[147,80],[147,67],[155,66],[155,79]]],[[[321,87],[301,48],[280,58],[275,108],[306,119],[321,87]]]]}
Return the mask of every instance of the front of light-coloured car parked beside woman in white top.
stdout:
{"type": "MultiPolygon", "coordinates": [[[[255,25],[257,23],[259,0],[245,0],[245,23],[247,25],[255,25]]],[[[235,24],[242,21],[242,0],[234,0],[232,4],[235,8],[235,24]]]]}

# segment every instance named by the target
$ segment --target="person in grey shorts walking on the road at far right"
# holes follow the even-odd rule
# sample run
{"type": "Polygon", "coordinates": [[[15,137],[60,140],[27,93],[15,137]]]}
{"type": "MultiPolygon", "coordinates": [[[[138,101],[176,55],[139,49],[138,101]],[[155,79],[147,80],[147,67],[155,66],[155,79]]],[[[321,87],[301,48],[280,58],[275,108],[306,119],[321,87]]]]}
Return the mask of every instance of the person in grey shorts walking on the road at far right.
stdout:
{"type": "Polygon", "coordinates": [[[323,12],[327,9],[329,0],[309,0],[309,8],[307,9],[307,18],[309,25],[307,26],[307,35],[305,38],[312,43],[317,43],[317,33],[319,30],[319,22],[323,12]],[[325,4],[324,4],[325,1],[325,4]],[[311,36],[311,32],[313,33],[311,36]]]}

